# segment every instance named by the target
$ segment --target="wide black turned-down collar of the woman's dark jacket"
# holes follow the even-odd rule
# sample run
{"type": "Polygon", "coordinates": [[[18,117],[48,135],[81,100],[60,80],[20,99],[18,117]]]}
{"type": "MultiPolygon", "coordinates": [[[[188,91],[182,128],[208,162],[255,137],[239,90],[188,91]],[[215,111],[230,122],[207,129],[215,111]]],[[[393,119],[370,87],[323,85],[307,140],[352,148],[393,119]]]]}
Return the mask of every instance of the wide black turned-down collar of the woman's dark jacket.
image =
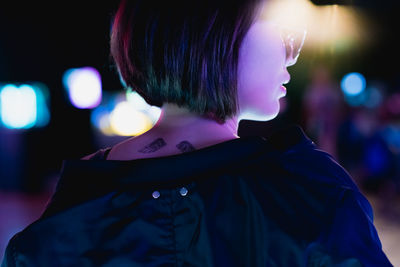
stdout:
{"type": "Polygon", "coordinates": [[[291,125],[267,138],[246,136],[166,157],[64,160],[56,192],[42,217],[116,190],[176,188],[206,177],[246,171],[246,165],[258,162],[268,168],[282,153],[304,143],[312,141],[299,126],[291,125]]]}

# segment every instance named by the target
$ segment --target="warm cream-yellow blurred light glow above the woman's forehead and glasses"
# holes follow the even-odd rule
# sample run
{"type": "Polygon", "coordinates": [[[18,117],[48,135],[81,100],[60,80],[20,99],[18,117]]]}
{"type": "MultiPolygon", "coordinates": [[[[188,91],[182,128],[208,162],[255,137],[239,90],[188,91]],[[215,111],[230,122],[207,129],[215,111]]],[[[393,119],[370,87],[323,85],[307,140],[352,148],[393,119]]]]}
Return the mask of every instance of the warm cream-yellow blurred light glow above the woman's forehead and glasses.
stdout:
{"type": "Polygon", "coordinates": [[[271,0],[263,18],[294,30],[307,30],[305,47],[355,47],[369,40],[365,18],[354,7],[316,6],[309,0],[271,0]]]}

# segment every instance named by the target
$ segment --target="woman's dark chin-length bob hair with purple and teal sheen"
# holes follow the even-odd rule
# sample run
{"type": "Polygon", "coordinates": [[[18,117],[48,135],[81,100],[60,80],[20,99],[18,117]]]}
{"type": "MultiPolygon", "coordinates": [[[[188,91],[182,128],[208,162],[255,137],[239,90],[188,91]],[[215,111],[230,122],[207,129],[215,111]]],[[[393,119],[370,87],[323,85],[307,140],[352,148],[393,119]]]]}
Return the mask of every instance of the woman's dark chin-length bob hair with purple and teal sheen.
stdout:
{"type": "Polygon", "coordinates": [[[152,106],[175,103],[225,123],[238,112],[240,44],[264,0],[122,0],[111,56],[152,106]]]}

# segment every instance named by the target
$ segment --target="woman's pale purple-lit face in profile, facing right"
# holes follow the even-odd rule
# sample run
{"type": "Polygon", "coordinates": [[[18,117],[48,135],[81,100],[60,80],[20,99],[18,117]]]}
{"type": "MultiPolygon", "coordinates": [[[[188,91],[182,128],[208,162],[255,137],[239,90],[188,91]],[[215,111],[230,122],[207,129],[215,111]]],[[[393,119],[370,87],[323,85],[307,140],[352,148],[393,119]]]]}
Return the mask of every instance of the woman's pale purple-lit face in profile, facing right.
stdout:
{"type": "Polygon", "coordinates": [[[287,57],[282,31],[277,25],[256,21],[246,34],[239,53],[238,99],[240,117],[267,121],[279,113],[279,99],[286,95],[290,80],[287,67],[294,64],[287,57]]]}

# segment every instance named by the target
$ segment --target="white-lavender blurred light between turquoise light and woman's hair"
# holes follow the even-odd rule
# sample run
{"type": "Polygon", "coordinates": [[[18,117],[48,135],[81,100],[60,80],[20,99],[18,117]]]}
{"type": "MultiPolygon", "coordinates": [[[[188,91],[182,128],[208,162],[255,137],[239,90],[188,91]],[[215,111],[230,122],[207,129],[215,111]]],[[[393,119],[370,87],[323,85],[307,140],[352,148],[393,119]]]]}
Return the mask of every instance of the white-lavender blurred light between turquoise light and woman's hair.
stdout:
{"type": "Polygon", "coordinates": [[[71,103],[80,109],[97,107],[101,102],[100,73],[92,67],[67,70],[63,76],[64,87],[71,103]]]}

